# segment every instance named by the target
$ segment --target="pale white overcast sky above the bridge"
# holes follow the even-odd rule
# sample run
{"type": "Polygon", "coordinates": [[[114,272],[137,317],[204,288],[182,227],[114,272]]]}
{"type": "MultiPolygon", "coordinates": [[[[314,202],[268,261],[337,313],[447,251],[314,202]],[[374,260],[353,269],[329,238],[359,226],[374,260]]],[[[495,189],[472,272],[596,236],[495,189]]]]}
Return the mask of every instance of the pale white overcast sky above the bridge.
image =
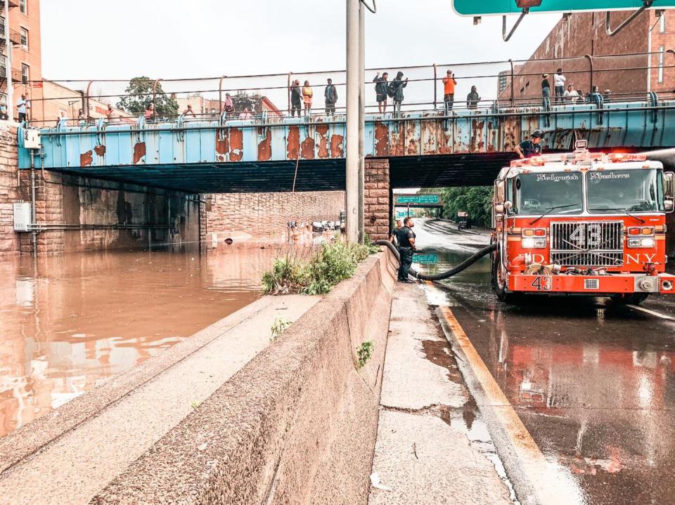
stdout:
{"type": "MultiPolygon", "coordinates": [[[[380,0],[378,12],[366,18],[366,67],[395,71],[406,65],[527,59],[559,19],[528,15],[505,43],[501,17],[484,17],[474,26],[472,18],[454,13],[451,0],[380,0]]],[[[513,22],[515,17],[508,20],[509,27],[513,22]]],[[[345,0],[41,0],[41,24],[46,79],[172,79],[345,68],[345,0]]],[[[496,74],[506,67],[454,70],[461,77],[496,74]]],[[[407,74],[421,79],[429,72],[407,74]]],[[[374,72],[366,73],[366,81],[374,77],[374,72]]],[[[312,77],[323,85],[326,75],[312,77]]],[[[334,74],[333,81],[344,77],[334,74]]],[[[433,93],[422,83],[412,84],[408,96],[413,101],[433,93]]],[[[468,93],[475,84],[484,97],[496,92],[496,78],[467,77],[458,93],[468,93]]],[[[167,83],[165,89],[196,91],[214,85],[217,80],[167,83]]],[[[285,77],[230,79],[225,86],[283,85],[285,77]]],[[[104,91],[115,87],[97,86],[104,91]]],[[[267,94],[285,100],[280,93],[267,94]]],[[[344,88],[342,93],[338,88],[340,94],[345,95],[344,88]]]]}

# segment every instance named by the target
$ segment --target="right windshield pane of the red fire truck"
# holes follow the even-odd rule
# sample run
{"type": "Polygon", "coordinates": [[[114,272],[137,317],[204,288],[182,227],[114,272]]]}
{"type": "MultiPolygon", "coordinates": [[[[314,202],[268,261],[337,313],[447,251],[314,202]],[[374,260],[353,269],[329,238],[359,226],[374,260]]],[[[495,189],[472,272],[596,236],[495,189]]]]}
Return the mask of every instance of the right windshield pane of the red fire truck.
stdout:
{"type": "Polygon", "coordinates": [[[663,174],[658,169],[589,171],[589,212],[662,211],[663,174]]]}

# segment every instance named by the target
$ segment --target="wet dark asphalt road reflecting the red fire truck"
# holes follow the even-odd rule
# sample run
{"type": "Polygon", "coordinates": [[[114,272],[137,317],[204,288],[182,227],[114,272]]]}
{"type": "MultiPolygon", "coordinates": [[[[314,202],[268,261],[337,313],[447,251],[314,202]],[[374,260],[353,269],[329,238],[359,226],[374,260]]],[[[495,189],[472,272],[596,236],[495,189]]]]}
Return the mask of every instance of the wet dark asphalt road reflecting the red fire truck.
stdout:
{"type": "MultiPolygon", "coordinates": [[[[438,256],[416,265],[424,271],[455,265],[485,240],[442,221],[416,230],[424,252],[438,256]]],[[[439,303],[451,307],[541,452],[569,471],[581,497],[570,503],[675,503],[675,321],[605,299],[508,306],[489,282],[486,258],[446,281],[439,303]]],[[[643,307],[675,317],[671,298],[643,307]]]]}

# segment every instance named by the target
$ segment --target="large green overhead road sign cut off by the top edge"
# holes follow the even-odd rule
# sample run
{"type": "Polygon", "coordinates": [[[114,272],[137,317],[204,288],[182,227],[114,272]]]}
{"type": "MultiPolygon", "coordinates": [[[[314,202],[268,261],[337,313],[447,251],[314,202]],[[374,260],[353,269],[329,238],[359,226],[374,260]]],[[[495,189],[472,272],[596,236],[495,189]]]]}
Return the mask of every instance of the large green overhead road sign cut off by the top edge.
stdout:
{"type": "MultiPolygon", "coordinates": [[[[531,13],[572,11],[626,11],[638,9],[643,0],[452,0],[459,15],[520,14],[529,6],[531,13]]],[[[675,0],[654,0],[652,8],[675,8],[675,0]]]]}

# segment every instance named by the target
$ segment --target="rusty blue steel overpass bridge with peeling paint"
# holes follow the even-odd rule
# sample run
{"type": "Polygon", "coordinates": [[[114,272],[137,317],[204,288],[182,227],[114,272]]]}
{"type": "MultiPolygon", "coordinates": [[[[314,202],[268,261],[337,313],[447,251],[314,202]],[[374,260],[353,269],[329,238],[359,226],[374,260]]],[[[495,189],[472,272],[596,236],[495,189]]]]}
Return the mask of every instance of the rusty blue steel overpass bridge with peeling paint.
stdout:
{"type": "MultiPolygon", "coordinates": [[[[36,166],[78,176],[185,192],[279,192],[345,188],[345,116],[271,117],[72,125],[40,129],[36,166]]],[[[544,150],[652,150],[675,139],[675,100],[643,98],[514,107],[493,102],[366,115],[366,157],[389,163],[390,188],[489,185],[534,129],[544,150]]],[[[21,132],[20,132],[21,133],[21,132]]],[[[30,168],[20,135],[19,166],[30,168]]]]}

